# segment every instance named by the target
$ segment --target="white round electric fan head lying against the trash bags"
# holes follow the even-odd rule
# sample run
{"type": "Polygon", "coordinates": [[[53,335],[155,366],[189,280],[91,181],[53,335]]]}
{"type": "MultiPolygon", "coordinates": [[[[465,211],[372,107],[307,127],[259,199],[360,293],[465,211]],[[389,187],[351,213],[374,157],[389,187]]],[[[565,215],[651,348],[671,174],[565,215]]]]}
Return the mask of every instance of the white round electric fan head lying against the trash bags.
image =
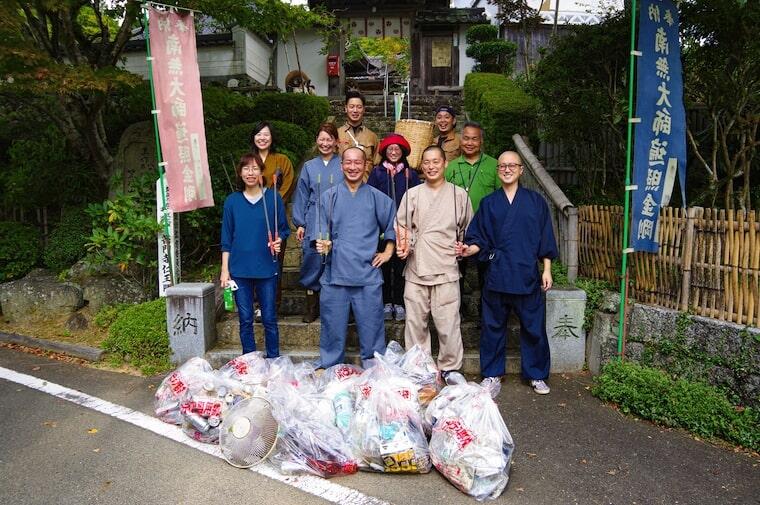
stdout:
{"type": "Polygon", "coordinates": [[[272,404],[261,396],[238,402],[224,416],[219,430],[219,447],[227,462],[250,468],[264,461],[277,442],[277,421],[272,404]]]}

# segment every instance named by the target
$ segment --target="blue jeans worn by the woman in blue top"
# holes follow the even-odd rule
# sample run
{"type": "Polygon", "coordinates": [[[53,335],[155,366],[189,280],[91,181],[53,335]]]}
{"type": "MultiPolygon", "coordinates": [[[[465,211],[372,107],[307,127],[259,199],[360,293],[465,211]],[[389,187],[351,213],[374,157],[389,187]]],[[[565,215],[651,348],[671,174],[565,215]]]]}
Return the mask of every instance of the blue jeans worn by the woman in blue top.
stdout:
{"type": "Polygon", "coordinates": [[[268,279],[251,279],[248,277],[232,277],[238,289],[235,291],[235,303],[238,306],[240,320],[240,343],[243,354],[256,350],[253,338],[253,294],[261,307],[261,322],[264,325],[264,342],[267,348],[267,358],[280,355],[280,331],[277,327],[277,276],[268,279]]]}

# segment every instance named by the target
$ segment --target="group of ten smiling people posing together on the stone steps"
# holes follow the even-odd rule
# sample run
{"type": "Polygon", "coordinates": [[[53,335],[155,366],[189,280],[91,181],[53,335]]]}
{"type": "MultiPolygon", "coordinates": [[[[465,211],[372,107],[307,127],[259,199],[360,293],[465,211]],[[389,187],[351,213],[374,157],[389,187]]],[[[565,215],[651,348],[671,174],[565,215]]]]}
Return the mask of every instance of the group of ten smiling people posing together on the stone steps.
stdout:
{"type": "MultiPolygon", "coordinates": [[[[411,147],[401,135],[378,141],[364,126],[364,97],[346,95],[347,122],[324,123],[318,155],[307,161],[293,203],[296,238],[303,248],[304,321],[320,318],[320,363],[345,360],[353,314],[364,367],[385,350],[388,319],[405,321],[405,345],[431,352],[428,321],[439,338],[444,378],[462,366],[462,279],[477,268],[481,292],[480,364],[483,381],[499,381],[506,361],[507,320],[520,320],[522,374],[539,394],[549,393],[549,344],[543,292],[552,286],[557,257],[543,197],[519,184],[520,156],[482,152],[483,129],[474,122],[456,132],[456,113],[436,111],[439,135],[410,167],[411,147]],[[538,263],[542,264],[540,272],[538,263]]],[[[237,165],[241,191],[224,203],[222,286],[235,291],[243,352],[255,350],[253,297],[261,306],[267,357],[279,355],[276,306],[285,216],[293,167],[274,152],[270,125],[258,125],[251,152],[237,165]]]]}

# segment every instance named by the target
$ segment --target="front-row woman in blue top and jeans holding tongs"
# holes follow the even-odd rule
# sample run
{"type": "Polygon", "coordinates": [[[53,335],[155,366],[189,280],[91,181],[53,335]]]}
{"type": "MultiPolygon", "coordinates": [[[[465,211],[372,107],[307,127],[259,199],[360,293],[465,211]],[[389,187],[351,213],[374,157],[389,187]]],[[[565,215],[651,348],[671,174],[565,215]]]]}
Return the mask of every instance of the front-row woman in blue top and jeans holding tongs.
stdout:
{"type": "Polygon", "coordinates": [[[280,195],[265,188],[264,162],[256,153],[240,158],[237,179],[240,191],[224,201],[222,216],[222,288],[230,280],[238,286],[235,302],[240,320],[243,354],[256,350],[253,338],[253,295],[261,306],[268,358],[280,355],[277,328],[277,254],[290,235],[280,195]],[[276,223],[275,223],[276,219],[276,223]]]}

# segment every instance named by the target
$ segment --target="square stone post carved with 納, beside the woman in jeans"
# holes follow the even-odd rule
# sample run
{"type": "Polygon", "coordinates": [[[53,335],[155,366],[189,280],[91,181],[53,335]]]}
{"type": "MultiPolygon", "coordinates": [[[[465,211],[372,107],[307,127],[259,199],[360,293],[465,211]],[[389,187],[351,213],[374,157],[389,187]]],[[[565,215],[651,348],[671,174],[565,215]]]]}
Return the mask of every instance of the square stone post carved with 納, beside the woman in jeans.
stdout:
{"type": "Polygon", "coordinates": [[[172,363],[204,357],[216,341],[214,285],[183,282],[166,289],[166,328],[172,363]]]}

